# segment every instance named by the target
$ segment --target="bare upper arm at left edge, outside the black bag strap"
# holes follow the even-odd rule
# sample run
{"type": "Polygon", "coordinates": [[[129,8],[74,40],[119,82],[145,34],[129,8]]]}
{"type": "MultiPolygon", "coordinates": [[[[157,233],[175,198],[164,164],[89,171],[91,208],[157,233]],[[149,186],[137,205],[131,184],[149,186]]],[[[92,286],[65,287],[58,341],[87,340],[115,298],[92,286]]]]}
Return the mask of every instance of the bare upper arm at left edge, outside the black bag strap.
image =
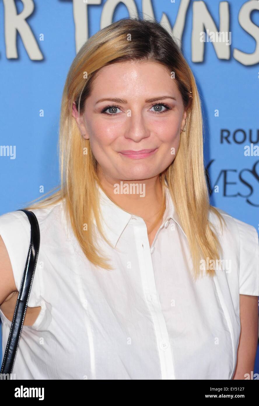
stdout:
{"type": "Polygon", "coordinates": [[[16,292],[15,279],[9,254],[0,235],[0,304],[16,292]]]}

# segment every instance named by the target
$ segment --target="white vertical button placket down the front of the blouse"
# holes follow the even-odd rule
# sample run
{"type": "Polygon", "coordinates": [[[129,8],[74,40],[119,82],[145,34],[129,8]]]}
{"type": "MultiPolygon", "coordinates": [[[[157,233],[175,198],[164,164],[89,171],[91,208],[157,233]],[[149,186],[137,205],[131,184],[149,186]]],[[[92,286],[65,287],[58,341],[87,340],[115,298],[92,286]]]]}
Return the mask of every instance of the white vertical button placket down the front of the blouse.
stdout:
{"type": "Polygon", "coordinates": [[[163,380],[171,380],[175,379],[173,354],[171,351],[165,318],[156,292],[156,283],[154,279],[154,270],[151,259],[151,254],[152,252],[154,252],[154,250],[152,251],[152,248],[154,247],[150,249],[146,224],[143,220],[141,220],[142,219],[139,219],[138,221],[133,223],[133,229],[137,243],[139,268],[141,272],[141,281],[148,308],[150,310],[154,323],[154,330],[156,334],[158,354],[161,365],[161,376],[163,380]]]}

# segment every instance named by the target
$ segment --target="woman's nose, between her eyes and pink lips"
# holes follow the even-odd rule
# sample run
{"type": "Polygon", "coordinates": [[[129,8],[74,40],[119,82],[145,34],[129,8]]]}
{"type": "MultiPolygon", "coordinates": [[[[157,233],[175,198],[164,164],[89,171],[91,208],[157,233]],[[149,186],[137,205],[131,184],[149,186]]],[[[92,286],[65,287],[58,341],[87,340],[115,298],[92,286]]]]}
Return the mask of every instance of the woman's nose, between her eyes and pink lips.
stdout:
{"type": "Polygon", "coordinates": [[[124,137],[139,143],[142,138],[150,136],[150,129],[139,109],[128,110],[127,126],[124,137]]]}

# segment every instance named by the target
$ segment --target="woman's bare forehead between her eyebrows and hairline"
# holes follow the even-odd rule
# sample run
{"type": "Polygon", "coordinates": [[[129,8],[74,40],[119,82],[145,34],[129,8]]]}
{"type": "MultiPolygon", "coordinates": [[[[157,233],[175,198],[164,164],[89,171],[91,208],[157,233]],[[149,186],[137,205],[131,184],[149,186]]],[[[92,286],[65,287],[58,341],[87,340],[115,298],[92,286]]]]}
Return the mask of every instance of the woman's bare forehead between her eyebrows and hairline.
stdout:
{"type": "MultiPolygon", "coordinates": [[[[175,79],[160,63],[145,61],[126,61],[112,63],[101,68],[92,86],[93,97],[99,97],[104,92],[126,95],[154,95],[174,93],[180,96],[175,79]]],[[[154,95],[156,96],[156,95],[154,95]]]]}

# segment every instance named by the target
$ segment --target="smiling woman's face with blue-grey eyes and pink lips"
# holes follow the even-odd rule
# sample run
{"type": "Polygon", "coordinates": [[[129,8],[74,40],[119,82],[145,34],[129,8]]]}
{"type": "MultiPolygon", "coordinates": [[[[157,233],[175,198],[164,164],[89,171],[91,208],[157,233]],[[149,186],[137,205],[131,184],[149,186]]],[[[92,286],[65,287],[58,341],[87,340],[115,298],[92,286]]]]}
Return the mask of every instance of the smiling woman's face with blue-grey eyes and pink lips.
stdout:
{"type": "Polygon", "coordinates": [[[186,112],[163,65],[123,62],[100,69],[81,117],[75,103],[73,117],[90,140],[98,173],[128,181],[157,177],[171,164],[186,112]]]}

